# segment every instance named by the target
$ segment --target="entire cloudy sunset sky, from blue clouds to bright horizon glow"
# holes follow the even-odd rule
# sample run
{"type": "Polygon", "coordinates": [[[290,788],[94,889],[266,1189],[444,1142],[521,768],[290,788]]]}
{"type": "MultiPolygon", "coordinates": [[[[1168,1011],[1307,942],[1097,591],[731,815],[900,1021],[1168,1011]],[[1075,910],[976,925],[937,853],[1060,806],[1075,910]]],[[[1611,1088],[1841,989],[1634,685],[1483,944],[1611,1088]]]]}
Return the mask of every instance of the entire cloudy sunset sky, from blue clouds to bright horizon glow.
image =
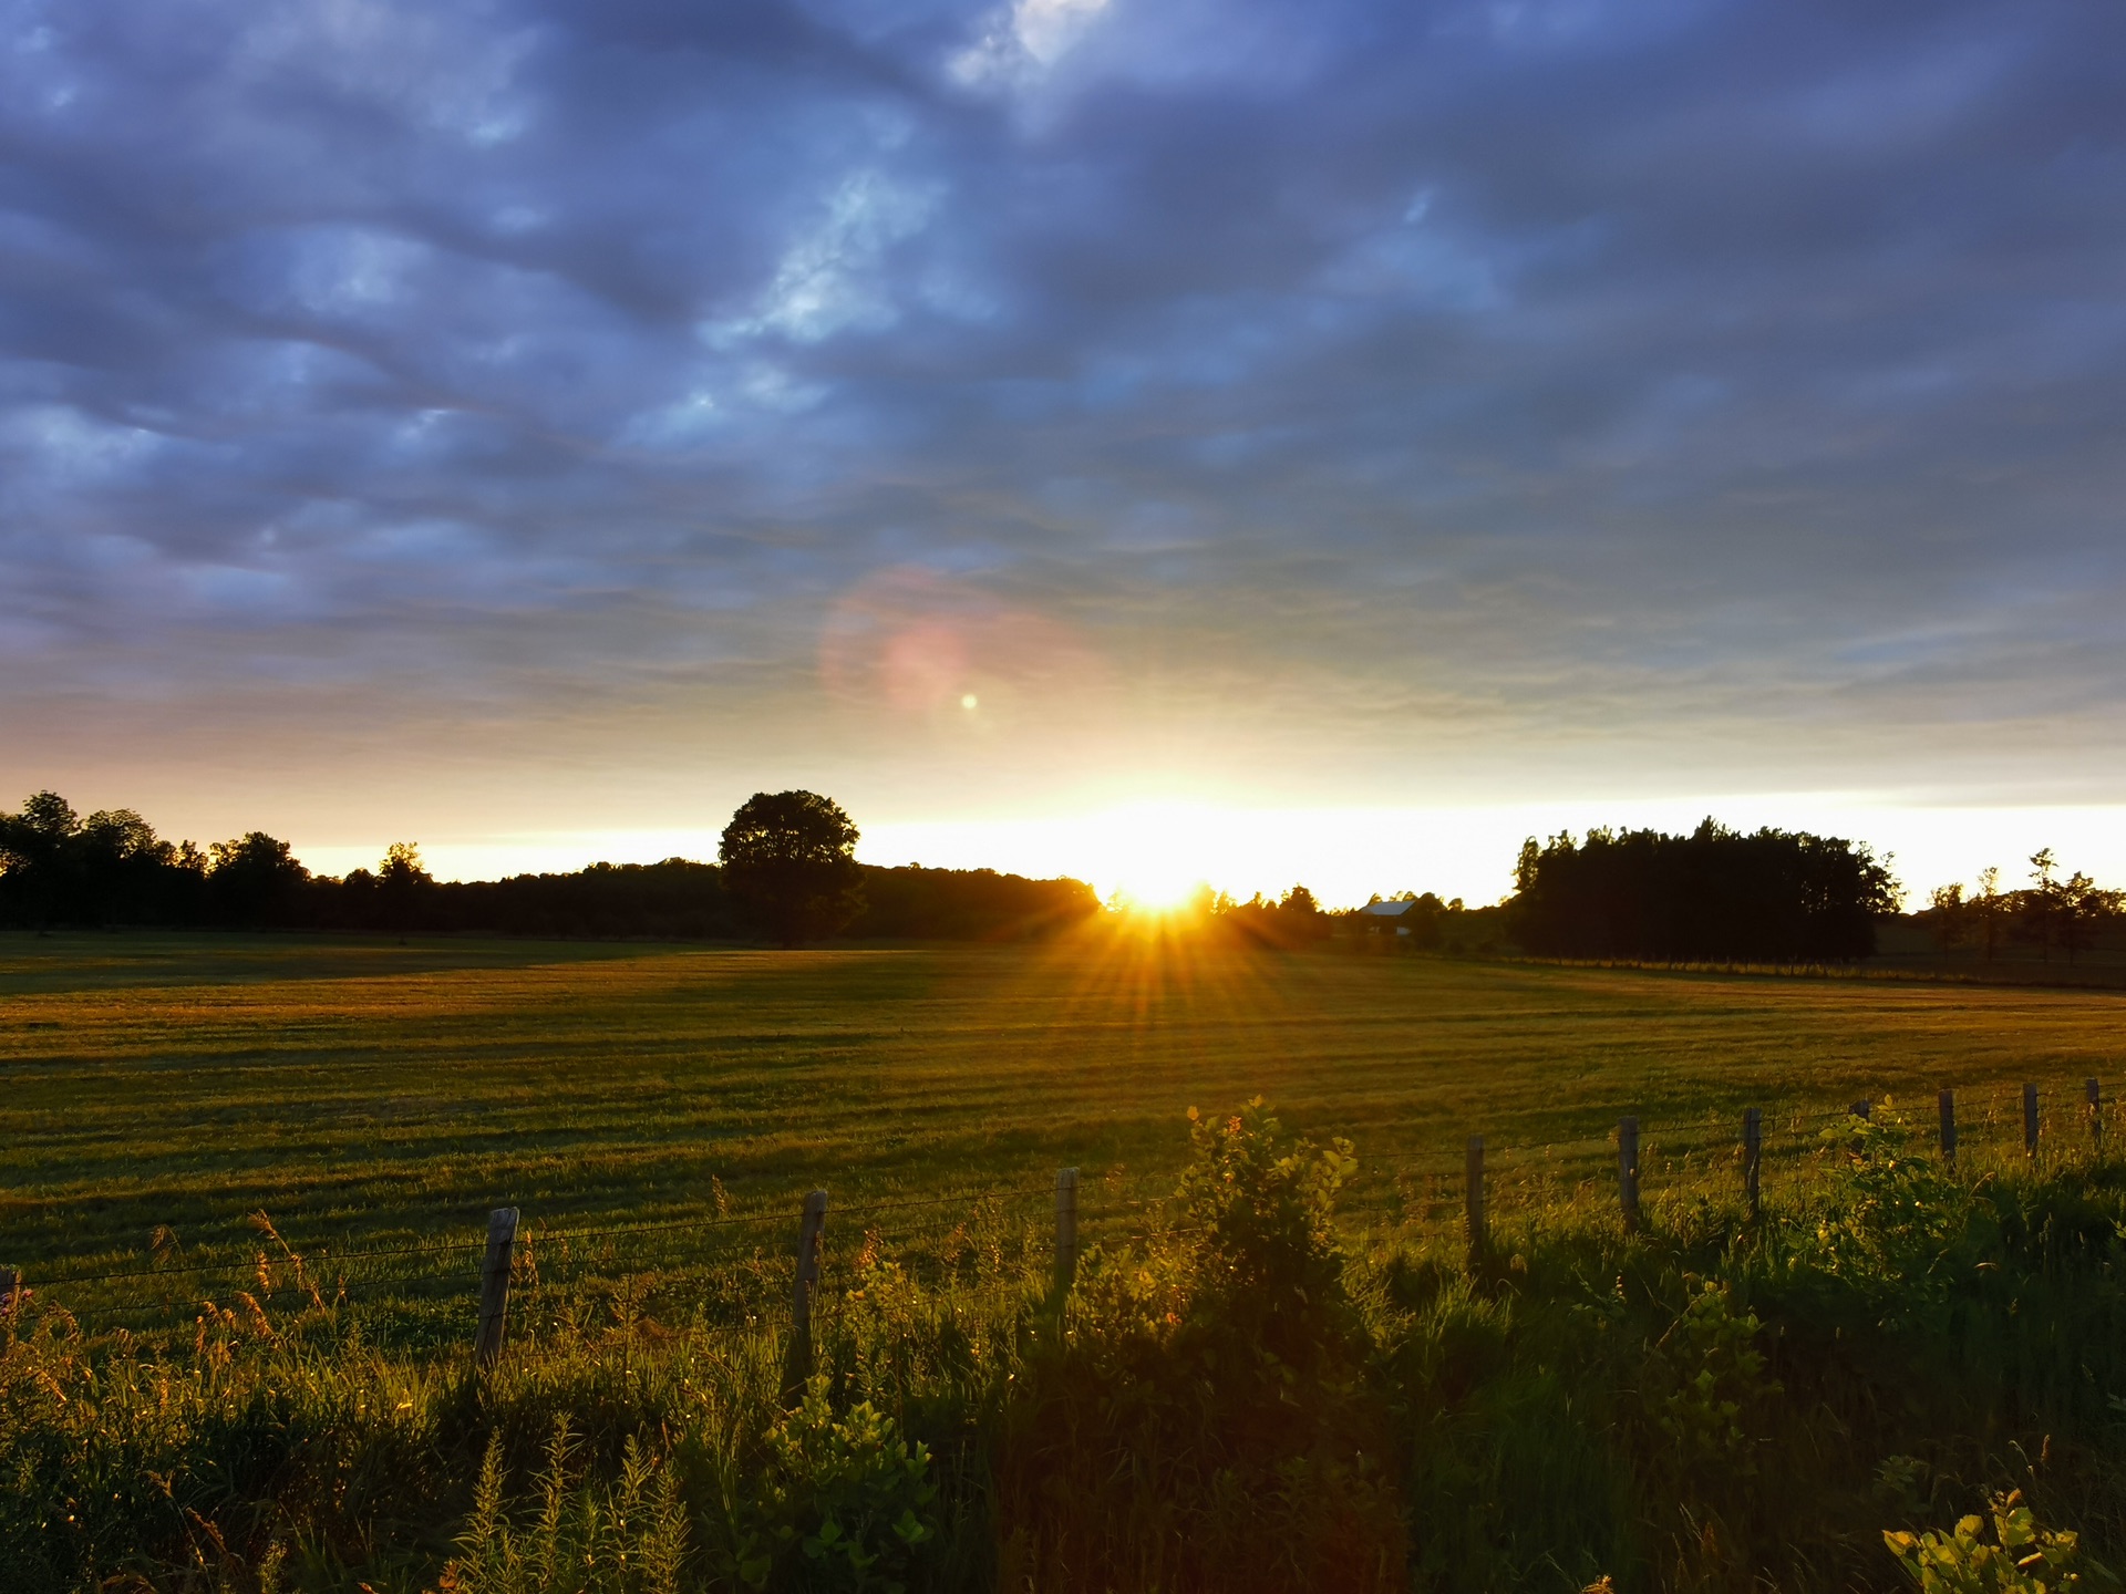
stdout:
{"type": "Polygon", "coordinates": [[[2126,882],[2126,11],[0,0],[0,806],[2126,882]]]}

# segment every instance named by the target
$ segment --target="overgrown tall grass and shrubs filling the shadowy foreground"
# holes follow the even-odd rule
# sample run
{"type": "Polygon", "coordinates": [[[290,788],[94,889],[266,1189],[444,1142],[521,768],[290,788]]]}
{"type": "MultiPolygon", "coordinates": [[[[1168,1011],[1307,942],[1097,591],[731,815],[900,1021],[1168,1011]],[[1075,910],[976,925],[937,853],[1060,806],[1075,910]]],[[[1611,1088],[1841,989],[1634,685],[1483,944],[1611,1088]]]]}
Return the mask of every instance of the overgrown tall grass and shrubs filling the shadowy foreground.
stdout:
{"type": "Polygon", "coordinates": [[[1847,1122],[1758,1224],[1526,1203],[1473,1265],[1339,1228],[1352,1167],[1259,1105],[1201,1120],[1163,1224],[1061,1299],[1020,1250],[867,1243],[791,1405],[770,1318],[634,1296],[485,1375],[330,1292],[162,1337],[32,1296],[0,1341],[0,1583],[1894,1588],[1886,1530],[1952,1554],[2007,1490],[2090,1585],[2126,1560],[2120,1163],[1950,1173],[1847,1122]]]}

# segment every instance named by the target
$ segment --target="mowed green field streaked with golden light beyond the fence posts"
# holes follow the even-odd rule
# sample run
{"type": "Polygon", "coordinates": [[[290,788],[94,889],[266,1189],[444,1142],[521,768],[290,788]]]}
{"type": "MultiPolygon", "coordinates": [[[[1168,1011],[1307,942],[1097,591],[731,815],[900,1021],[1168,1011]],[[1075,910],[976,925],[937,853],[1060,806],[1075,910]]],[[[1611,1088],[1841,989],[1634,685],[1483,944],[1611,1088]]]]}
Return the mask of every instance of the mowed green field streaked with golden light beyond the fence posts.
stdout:
{"type": "MultiPolygon", "coordinates": [[[[1650,1194],[1731,1158],[1741,1107],[1803,1146],[1858,1097],[2005,1143],[2037,1080],[2079,1143],[2126,1084],[2126,995],[1560,969],[1148,944],[806,952],[529,942],[0,935],[0,1265],[242,1235],[836,1209],[1078,1165],[1150,1188],[1191,1105],[1263,1095],[1356,1141],[1359,1211],[1452,1214],[1463,1143],[1594,1180],[1618,1114],[1650,1194]],[[1422,1192],[1422,1199],[1418,1197],[1422,1192]],[[1422,1211],[1418,1211],[1422,1207],[1422,1211]]],[[[1533,1177],[1533,1175],[1531,1175],[1533,1177]]],[[[34,1275],[34,1273],[32,1273],[34,1275]]]]}

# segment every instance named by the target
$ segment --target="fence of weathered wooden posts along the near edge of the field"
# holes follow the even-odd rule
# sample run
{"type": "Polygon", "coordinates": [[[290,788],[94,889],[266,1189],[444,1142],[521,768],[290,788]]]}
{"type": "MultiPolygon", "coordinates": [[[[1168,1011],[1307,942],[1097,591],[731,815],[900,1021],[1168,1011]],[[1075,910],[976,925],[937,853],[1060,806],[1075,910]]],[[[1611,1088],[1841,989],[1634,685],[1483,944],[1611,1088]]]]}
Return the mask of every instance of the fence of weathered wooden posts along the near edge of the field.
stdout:
{"type": "MultiPolygon", "coordinates": [[[[1743,1112],[1639,1122],[1622,1116],[1605,1133],[1537,1146],[1441,1141],[1350,1192],[1344,1220],[1399,1243],[1473,1243],[1560,1209],[1622,1222],[1654,1220],[1684,1203],[1796,1207],[1845,1160],[1854,1116],[1884,1103],[1807,1103],[1760,1112],[1750,1139],[1743,1112]],[[1754,1167],[1752,1167],[1754,1165],[1754,1167]]],[[[1892,1107],[1916,1150],[1971,1177],[2005,1167],[2045,1167],[2105,1152],[2107,1101],[2096,1080],[2071,1090],[1971,1090],[1958,1103],[1892,1107]]],[[[0,1267],[0,1311],[26,1299],[60,1305],[98,1330],[142,1333],[232,1309],[355,1307],[398,1324],[402,1337],[463,1339],[489,1313],[521,1330],[578,1322],[587,1303],[623,1320],[706,1316],[759,1322],[793,1305],[810,1267],[810,1294],[833,1303],[874,1269],[921,1286],[980,1286],[1065,1277],[1091,1245],[1144,1245],[1197,1233],[1182,1222],[1171,1177],[1112,1169],[1076,1171],[1057,1184],[887,1197],[827,1207],[810,1231],[797,1201],[731,1211],[721,1186],[702,1214],[585,1224],[519,1222],[497,1256],[495,1231],[478,1239],[374,1237],[296,1243],[266,1220],[240,1241],[183,1252],[168,1231],[145,1256],[79,1258],[45,1269],[0,1267]],[[1067,1205],[1067,1211],[1065,1211],[1067,1205]],[[497,1282],[500,1269],[500,1282],[497,1282]],[[506,1303],[497,1305],[497,1303],[506,1303]]],[[[500,1218],[502,1214],[497,1214],[500,1218]]],[[[495,1328],[500,1333],[500,1326],[495,1328]]]]}

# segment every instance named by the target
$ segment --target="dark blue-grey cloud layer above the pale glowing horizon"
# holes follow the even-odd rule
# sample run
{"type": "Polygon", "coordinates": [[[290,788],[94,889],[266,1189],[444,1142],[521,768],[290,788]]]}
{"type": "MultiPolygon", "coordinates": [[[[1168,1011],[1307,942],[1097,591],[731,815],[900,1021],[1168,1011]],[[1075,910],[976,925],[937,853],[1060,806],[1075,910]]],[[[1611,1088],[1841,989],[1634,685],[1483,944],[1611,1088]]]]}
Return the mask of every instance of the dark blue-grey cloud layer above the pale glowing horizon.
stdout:
{"type": "Polygon", "coordinates": [[[2126,695],[2113,6],[0,17],[17,699],[797,678],[895,567],[1354,735],[2126,695]]]}

